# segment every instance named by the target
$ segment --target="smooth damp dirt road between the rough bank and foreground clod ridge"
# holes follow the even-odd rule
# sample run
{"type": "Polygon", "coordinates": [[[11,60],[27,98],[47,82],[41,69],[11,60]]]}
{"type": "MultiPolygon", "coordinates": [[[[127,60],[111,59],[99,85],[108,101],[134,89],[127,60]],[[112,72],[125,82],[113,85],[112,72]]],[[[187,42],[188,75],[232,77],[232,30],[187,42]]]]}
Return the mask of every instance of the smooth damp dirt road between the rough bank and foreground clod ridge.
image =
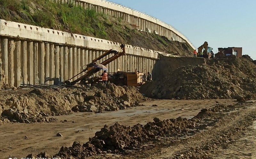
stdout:
{"type": "Polygon", "coordinates": [[[147,123],[154,117],[161,120],[169,118],[191,118],[203,108],[219,103],[235,104],[234,100],[154,100],[143,103],[145,106],[105,113],[74,113],[72,115],[55,116],[55,123],[14,123],[0,126],[1,158],[25,157],[30,153],[46,152],[56,154],[61,146],[71,146],[77,140],[81,143],[93,137],[105,124],[119,122],[123,125],[147,123]],[[151,107],[153,104],[158,107],[151,107]],[[67,120],[67,122],[63,122],[67,120]],[[63,137],[56,137],[61,133],[63,137]]]}

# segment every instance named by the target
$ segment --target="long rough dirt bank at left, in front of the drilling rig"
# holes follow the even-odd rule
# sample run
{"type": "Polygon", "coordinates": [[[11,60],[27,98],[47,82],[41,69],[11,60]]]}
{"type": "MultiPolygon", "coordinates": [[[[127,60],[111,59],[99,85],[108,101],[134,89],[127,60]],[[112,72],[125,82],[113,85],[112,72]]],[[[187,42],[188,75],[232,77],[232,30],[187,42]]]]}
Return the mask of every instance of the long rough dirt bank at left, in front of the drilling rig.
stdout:
{"type": "Polygon", "coordinates": [[[2,92],[0,113],[2,120],[33,123],[52,122],[54,115],[73,112],[102,112],[140,106],[149,100],[133,86],[116,86],[112,83],[83,89],[15,90],[2,92]]]}

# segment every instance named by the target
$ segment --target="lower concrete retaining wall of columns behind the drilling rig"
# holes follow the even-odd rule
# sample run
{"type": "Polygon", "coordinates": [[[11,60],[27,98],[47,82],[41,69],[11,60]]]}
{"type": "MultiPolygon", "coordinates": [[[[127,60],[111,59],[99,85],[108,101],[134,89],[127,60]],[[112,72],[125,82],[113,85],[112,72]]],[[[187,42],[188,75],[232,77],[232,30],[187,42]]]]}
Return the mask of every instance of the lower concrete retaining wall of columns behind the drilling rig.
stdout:
{"type": "MultiPolygon", "coordinates": [[[[4,82],[16,87],[21,83],[61,83],[105,51],[121,51],[120,44],[112,41],[6,20],[0,20],[0,43],[4,82]]],[[[108,72],[136,68],[151,72],[162,53],[131,45],[125,50],[127,55],[108,64],[108,72]]]]}

